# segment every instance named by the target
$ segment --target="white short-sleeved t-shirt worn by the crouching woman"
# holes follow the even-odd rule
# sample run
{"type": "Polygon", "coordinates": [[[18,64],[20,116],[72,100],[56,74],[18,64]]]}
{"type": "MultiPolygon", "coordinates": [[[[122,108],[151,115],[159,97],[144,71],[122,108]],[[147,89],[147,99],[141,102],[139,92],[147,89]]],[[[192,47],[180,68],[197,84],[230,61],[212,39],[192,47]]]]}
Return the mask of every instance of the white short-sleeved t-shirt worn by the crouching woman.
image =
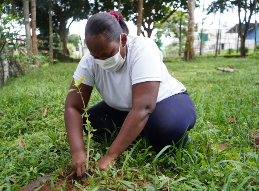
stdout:
{"type": "Polygon", "coordinates": [[[95,85],[105,103],[120,111],[132,109],[132,85],[136,83],[160,81],[157,103],[186,90],[168,73],[162,52],[152,39],[128,35],[126,47],[125,63],[116,72],[105,71],[87,51],[76,68],[74,79],[85,76],[82,83],[95,85]]]}

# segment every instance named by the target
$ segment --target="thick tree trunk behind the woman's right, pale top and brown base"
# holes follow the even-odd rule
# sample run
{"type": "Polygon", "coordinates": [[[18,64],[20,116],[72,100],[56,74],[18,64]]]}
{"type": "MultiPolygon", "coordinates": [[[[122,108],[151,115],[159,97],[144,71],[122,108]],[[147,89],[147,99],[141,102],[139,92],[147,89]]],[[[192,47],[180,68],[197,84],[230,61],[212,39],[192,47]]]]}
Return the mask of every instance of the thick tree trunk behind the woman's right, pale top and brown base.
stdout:
{"type": "Polygon", "coordinates": [[[190,61],[194,59],[194,51],[193,51],[193,40],[194,40],[194,10],[195,10],[195,0],[188,1],[188,32],[187,32],[187,41],[185,45],[184,51],[184,59],[186,61],[190,61]]]}

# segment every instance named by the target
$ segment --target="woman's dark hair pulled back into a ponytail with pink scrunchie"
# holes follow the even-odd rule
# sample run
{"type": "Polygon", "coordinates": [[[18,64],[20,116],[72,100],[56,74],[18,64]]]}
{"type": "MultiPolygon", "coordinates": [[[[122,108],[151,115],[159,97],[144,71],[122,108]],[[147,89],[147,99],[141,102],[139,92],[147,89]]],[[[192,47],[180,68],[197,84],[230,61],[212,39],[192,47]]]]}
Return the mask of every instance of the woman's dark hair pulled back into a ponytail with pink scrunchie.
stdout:
{"type": "Polygon", "coordinates": [[[108,42],[119,40],[121,33],[129,34],[129,28],[125,23],[122,14],[118,11],[111,11],[117,13],[120,17],[119,22],[116,16],[107,12],[101,12],[92,15],[85,26],[85,39],[88,35],[100,35],[106,33],[108,42]]]}

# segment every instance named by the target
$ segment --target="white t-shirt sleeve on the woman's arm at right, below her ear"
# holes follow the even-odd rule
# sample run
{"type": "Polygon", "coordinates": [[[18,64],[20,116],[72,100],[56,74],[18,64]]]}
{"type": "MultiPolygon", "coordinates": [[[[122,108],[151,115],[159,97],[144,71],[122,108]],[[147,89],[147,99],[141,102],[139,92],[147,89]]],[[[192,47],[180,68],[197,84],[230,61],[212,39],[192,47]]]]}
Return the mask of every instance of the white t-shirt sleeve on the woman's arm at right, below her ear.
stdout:
{"type": "Polygon", "coordinates": [[[131,63],[132,85],[147,81],[162,82],[161,55],[158,47],[148,44],[136,48],[131,63]]]}

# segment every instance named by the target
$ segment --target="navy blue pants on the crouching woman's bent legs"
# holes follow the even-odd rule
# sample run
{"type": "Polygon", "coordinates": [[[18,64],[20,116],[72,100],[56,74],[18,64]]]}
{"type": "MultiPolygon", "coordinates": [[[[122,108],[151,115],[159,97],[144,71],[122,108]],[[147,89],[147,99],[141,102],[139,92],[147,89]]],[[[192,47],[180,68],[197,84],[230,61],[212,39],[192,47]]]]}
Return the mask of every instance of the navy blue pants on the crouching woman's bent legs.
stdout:
{"type": "MultiPolygon", "coordinates": [[[[104,136],[109,136],[105,128],[112,132],[115,126],[121,127],[129,112],[111,108],[101,101],[90,108],[87,113],[90,114],[88,119],[92,127],[97,129],[94,135],[104,138],[104,136]]],[[[183,141],[185,145],[188,140],[187,130],[190,130],[195,122],[194,103],[188,93],[183,92],[158,102],[142,132],[157,149],[161,150],[166,145],[172,145],[172,141],[177,143],[183,136],[185,136],[183,141]]],[[[99,142],[98,139],[95,140],[99,142]]]]}

